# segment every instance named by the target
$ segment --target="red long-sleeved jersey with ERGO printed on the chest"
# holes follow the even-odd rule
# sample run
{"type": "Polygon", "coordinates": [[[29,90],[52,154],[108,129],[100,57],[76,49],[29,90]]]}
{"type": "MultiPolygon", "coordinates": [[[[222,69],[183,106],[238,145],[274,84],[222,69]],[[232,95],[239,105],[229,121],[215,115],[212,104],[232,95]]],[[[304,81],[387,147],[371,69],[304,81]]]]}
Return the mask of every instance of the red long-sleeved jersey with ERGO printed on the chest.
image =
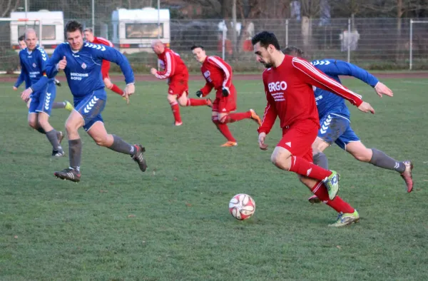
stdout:
{"type": "Polygon", "coordinates": [[[263,83],[267,106],[259,133],[269,133],[277,116],[280,117],[281,128],[307,119],[320,126],[312,86],[335,93],[355,106],[362,103],[360,95],[326,76],[309,62],[292,56],[285,56],[276,68],[267,68],[263,72],[263,83]]]}

